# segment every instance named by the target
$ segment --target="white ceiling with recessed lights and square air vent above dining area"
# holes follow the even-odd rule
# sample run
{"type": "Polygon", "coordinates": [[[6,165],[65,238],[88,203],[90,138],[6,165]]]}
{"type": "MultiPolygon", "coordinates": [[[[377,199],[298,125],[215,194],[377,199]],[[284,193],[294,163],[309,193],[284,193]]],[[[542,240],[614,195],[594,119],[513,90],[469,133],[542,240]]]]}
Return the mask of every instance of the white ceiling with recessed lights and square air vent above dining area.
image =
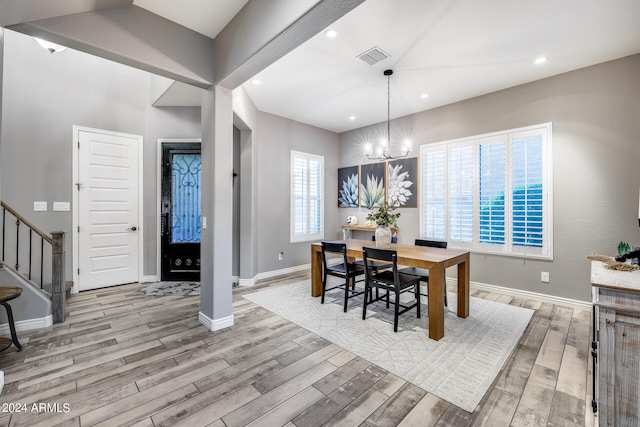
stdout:
{"type": "MultiPolygon", "coordinates": [[[[246,2],[134,4],[214,37],[246,2]]],[[[388,68],[394,118],[640,53],[640,1],[367,0],[331,28],[243,85],[258,109],[344,132],[386,120],[388,68]],[[390,57],[357,58],[376,46],[390,57]]]]}

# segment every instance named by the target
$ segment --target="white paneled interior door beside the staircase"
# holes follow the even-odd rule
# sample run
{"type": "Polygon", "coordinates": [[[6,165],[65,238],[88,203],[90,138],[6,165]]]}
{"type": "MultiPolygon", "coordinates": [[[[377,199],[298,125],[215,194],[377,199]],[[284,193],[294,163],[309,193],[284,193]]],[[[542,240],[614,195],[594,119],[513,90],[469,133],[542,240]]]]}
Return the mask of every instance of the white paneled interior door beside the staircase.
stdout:
{"type": "Polygon", "coordinates": [[[78,289],[138,282],[142,137],[85,128],[75,134],[78,289]]]}

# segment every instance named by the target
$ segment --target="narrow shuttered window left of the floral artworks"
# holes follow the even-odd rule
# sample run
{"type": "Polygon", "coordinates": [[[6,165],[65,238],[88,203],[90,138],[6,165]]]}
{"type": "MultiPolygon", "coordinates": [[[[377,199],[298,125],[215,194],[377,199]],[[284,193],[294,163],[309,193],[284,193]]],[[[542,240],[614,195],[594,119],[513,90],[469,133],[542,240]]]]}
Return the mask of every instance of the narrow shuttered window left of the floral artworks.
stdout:
{"type": "Polygon", "coordinates": [[[291,242],[324,238],[324,157],[291,152],[291,242]]]}

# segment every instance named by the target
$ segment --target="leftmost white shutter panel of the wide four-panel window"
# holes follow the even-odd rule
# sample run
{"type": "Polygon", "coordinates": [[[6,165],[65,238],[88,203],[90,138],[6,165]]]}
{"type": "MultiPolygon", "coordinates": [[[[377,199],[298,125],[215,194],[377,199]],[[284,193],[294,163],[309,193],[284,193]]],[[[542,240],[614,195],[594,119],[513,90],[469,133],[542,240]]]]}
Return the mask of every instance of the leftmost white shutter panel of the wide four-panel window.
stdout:
{"type": "Polygon", "coordinates": [[[444,150],[426,152],[422,156],[423,229],[427,239],[444,240],[447,227],[447,164],[444,150]]]}

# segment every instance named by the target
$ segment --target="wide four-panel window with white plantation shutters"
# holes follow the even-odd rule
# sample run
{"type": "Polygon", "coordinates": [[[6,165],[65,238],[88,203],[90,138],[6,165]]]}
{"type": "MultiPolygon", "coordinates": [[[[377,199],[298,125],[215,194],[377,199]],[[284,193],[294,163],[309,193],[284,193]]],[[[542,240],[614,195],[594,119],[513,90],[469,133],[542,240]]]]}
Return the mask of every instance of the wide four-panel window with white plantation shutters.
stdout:
{"type": "Polygon", "coordinates": [[[551,123],[421,147],[421,235],[551,259],[551,123]]]}

